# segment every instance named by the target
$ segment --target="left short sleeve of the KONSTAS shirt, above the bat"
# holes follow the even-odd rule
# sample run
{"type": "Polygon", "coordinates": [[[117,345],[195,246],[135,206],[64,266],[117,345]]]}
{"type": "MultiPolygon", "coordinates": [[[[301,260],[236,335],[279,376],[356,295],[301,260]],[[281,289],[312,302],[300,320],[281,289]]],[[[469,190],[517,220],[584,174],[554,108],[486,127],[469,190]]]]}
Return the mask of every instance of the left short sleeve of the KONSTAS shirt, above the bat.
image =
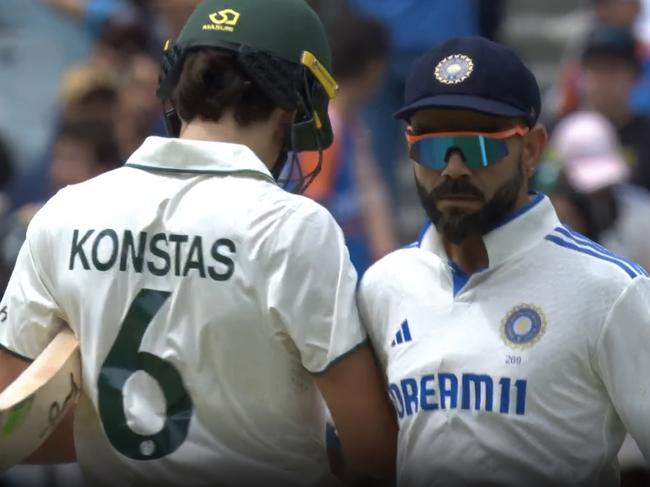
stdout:
{"type": "Polygon", "coordinates": [[[26,360],[35,359],[65,323],[37,262],[39,255],[52,255],[39,221],[35,217],[27,229],[0,302],[0,347],[26,360]]]}

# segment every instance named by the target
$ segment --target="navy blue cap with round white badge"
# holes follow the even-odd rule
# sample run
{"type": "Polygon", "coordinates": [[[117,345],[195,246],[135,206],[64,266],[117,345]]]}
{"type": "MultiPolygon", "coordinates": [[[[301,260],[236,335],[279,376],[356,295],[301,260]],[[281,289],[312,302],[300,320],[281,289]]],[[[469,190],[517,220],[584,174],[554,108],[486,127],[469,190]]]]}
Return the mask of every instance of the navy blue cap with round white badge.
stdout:
{"type": "Polygon", "coordinates": [[[416,61],[395,118],[408,122],[426,108],[523,117],[533,126],[541,97],[535,76],[511,49],[484,37],[456,37],[416,61]]]}

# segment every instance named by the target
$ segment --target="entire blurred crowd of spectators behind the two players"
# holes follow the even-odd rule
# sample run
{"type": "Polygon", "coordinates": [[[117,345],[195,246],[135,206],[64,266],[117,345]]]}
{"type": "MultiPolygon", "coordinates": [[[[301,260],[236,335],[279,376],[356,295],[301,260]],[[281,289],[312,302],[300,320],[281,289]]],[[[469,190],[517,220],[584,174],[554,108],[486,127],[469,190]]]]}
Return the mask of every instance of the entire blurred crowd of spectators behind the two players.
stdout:
{"type": "MultiPolygon", "coordinates": [[[[407,164],[404,127],[392,113],[409,66],[451,36],[503,40],[509,3],[306,1],[328,26],[340,84],[335,143],[307,195],[339,221],[362,273],[407,243],[398,203],[414,188],[398,174],[407,164]]],[[[145,137],[165,135],[155,96],[162,46],[198,3],[0,2],[0,291],[49,196],[121,165],[145,137]]],[[[650,268],[650,1],[582,7],[589,20],[568,36],[544,93],[551,143],[534,186],[565,223],[650,268]]]]}

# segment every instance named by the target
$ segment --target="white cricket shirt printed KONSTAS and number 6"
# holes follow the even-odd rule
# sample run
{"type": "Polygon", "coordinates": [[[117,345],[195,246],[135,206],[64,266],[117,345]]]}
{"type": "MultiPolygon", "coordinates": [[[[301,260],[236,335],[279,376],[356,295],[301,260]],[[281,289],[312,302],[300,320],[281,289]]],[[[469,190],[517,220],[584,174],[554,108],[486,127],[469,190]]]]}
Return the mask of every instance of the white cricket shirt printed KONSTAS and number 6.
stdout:
{"type": "Polygon", "coordinates": [[[310,373],[364,342],[355,287],[330,214],[247,147],[151,137],[36,215],[0,344],[79,337],[90,485],[329,485],[310,373]]]}

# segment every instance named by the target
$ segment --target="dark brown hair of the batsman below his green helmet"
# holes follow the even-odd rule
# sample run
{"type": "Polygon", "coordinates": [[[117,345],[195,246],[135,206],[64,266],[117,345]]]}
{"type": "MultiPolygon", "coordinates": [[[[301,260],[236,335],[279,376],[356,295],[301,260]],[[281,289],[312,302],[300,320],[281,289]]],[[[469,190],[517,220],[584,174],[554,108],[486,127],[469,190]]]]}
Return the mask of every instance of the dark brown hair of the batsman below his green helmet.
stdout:
{"type": "Polygon", "coordinates": [[[231,111],[242,126],[269,118],[276,105],[237,65],[235,53],[202,48],[188,53],[172,92],[178,115],[218,122],[231,111]]]}

